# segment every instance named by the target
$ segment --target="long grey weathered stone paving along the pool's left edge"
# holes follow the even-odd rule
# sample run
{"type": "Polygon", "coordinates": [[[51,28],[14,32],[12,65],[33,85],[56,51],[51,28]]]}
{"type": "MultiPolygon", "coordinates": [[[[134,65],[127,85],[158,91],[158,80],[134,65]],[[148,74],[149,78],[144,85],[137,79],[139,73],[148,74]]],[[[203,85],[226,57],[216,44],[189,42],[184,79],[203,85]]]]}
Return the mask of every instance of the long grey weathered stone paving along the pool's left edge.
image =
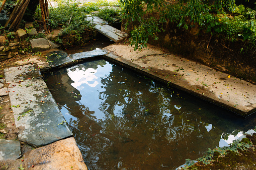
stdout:
{"type": "Polygon", "coordinates": [[[10,83],[9,97],[15,124],[19,128],[19,140],[39,146],[71,136],[63,115],[44,80],[40,79],[35,65],[23,66],[24,73],[16,68],[4,71],[6,81],[10,83]],[[31,76],[35,73],[38,78],[31,76]],[[28,75],[32,78],[27,78],[28,75]]]}

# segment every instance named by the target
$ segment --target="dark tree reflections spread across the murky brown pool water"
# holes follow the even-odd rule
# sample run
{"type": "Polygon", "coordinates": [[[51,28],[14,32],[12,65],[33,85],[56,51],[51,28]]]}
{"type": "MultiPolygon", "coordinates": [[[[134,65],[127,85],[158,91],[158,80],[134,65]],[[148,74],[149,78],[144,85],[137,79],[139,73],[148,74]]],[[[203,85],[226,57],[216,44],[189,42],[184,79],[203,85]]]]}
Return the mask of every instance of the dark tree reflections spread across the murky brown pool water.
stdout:
{"type": "MultiPolygon", "coordinates": [[[[104,65],[106,61],[99,60],[70,70],[104,65]]],[[[102,100],[99,110],[105,114],[103,120],[95,115],[97,110],[90,111],[90,105],[80,103],[81,95],[70,85],[73,81],[65,70],[49,79],[47,85],[54,98],[78,118],[70,118],[69,126],[90,169],[173,168],[217,146],[223,132],[215,127],[218,118],[209,119],[207,112],[198,114],[198,107],[186,106],[185,100],[177,98],[177,92],[127,74],[127,70],[115,65],[101,77],[102,89],[94,92],[102,100]],[[208,125],[212,130],[206,129],[208,125]]]]}

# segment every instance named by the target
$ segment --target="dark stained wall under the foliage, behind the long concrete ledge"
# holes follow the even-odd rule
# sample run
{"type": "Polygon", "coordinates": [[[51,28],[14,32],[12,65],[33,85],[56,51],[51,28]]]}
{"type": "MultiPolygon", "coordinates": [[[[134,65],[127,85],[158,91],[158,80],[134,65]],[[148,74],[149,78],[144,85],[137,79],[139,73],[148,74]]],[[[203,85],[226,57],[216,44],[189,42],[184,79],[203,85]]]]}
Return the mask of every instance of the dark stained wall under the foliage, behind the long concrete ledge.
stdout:
{"type": "MultiPolygon", "coordinates": [[[[157,15],[157,14],[154,14],[157,15]]],[[[157,18],[157,16],[156,16],[157,18]]],[[[127,30],[124,29],[125,21],[122,22],[122,31],[129,33],[136,23],[131,23],[127,30]]],[[[246,49],[248,43],[243,40],[231,42],[221,35],[207,33],[196,24],[188,30],[178,28],[176,24],[168,22],[163,26],[165,32],[159,33],[158,41],[149,38],[148,43],[167,49],[170,53],[202,63],[214,69],[221,70],[230,75],[243,78],[246,81],[256,83],[256,53],[255,49],[246,49]]]]}

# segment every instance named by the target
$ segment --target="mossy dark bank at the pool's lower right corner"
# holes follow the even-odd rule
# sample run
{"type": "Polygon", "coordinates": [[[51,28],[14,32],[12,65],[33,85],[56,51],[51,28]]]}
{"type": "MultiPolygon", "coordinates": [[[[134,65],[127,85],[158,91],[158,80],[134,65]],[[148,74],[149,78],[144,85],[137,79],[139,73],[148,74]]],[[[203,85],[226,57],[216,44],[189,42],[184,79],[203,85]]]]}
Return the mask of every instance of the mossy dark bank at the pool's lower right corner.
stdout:
{"type": "Polygon", "coordinates": [[[189,159],[179,169],[256,169],[256,133],[246,135],[240,142],[235,140],[229,147],[209,149],[193,164],[189,159]]]}

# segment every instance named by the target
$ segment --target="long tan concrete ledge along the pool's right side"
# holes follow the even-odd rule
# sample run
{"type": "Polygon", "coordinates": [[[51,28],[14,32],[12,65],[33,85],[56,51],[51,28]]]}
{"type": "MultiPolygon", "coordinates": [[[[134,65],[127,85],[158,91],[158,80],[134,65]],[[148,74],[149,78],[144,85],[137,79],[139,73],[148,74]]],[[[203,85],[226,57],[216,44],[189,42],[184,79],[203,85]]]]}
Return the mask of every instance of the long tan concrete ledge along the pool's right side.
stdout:
{"type": "Polygon", "coordinates": [[[242,116],[256,111],[256,85],[185,58],[149,46],[134,51],[129,45],[111,45],[106,54],[157,80],[224,107],[242,116]]]}

